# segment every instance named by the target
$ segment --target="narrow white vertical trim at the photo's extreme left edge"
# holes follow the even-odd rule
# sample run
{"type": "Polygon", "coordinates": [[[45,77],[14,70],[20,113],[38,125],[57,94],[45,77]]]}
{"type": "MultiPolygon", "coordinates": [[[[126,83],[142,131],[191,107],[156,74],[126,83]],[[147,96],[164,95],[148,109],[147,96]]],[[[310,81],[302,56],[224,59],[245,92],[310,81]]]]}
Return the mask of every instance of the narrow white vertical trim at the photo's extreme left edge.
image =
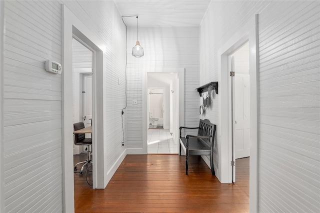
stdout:
{"type": "Polygon", "coordinates": [[[0,0],[0,212],[4,212],[4,173],[3,173],[3,37],[4,1],[0,0]]]}

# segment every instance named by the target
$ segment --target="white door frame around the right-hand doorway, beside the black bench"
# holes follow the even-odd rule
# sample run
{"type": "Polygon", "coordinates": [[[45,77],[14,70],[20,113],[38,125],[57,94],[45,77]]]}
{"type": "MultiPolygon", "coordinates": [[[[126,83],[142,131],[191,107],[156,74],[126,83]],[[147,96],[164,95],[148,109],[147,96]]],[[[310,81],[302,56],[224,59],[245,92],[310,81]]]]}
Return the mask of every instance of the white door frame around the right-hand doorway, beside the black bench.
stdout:
{"type": "Polygon", "coordinates": [[[221,129],[220,164],[221,182],[232,181],[232,121],[231,121],[231,78],[228,72],[228,56],[249,40],[250,74],[250,168],[249,168],[249,208],[258,211],[258,15],[254,15],[245,25],[218,50],[221,55],[219,72],[219,120],[221,129]],[[223,119],[222,119],[223,118],[223,119]]]}

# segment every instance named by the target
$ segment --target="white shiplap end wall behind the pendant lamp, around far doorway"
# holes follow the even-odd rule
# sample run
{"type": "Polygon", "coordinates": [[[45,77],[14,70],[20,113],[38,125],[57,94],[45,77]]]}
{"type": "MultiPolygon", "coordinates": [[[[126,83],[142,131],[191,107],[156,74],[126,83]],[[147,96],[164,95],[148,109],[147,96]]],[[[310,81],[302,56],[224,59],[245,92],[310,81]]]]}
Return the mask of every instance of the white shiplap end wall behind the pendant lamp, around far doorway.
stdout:
{"type": "MultiPolygon", "coordinates": [[[[144,56],[131,55],[136,27],[127,30],[127,147],[142,147],[142,76],[148,68],[185,68],[184,125],[199,122],[199,27],[139,27],[144,56]],[[132,100],[137,105],[132,105],[132,100]]],[[[144,112],[146,113],[146,112],[144,112]]]]}

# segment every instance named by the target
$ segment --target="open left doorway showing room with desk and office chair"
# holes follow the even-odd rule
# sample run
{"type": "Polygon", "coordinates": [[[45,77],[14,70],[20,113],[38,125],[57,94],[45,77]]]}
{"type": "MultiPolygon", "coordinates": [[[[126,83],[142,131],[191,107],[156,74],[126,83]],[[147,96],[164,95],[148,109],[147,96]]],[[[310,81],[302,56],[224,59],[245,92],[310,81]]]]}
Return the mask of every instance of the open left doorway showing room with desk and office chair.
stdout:
{"type": "MultiPolygon", "coordinates": [[[[72,38],[72,122],[84,127],[92,125],[92,58],[93,52],[72,38]]],[[[92,138],[91,133],[85,138],[92,138]]],[[[74,188],[92,186],[91,153],[91,145],[73,143],[74,188]]]]}

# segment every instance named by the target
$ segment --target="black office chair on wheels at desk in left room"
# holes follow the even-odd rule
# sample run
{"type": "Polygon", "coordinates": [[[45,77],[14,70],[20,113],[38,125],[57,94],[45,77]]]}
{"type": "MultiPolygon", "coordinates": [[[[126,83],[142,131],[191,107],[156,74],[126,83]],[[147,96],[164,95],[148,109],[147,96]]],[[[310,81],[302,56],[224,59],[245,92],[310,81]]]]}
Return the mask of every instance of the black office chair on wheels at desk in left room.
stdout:
{"type": "MultiPolygon", "coordinates": [[[[73,128],[75,130],[79,130],[81,128],[84,128],[84,123],[83,122],[78,122],[78,123],[73,123],[73,128]]],[[[82,174],[83,168],[85,165],[90,163],[92,161],[91,159],[91,151],[90,151],[90,145],[92,145],[92,138],[85,138],[85,134],[74,134],[74,144],[75,145],[86,145],[86,153],[87,153],[87,158],[85,161],[78,162],[74,165],[74,170],[76,169],[76,165],[84,163],[81,167],[81,170],[79,174],[82,174]]]]}

